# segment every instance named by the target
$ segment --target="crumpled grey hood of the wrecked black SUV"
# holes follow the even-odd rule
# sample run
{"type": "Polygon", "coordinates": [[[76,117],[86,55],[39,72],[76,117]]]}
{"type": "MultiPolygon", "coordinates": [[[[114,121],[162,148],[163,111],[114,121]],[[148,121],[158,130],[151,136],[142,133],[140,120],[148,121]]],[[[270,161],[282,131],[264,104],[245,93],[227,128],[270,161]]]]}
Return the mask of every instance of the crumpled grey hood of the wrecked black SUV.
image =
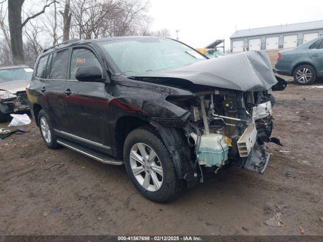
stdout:
{"type": "Polygon", "coordinates": [[[238,91],[264,91],[277,83],[270,59],[264,51],[246,51],[133,77],[185,79],[194,84],[238,91]]]}

